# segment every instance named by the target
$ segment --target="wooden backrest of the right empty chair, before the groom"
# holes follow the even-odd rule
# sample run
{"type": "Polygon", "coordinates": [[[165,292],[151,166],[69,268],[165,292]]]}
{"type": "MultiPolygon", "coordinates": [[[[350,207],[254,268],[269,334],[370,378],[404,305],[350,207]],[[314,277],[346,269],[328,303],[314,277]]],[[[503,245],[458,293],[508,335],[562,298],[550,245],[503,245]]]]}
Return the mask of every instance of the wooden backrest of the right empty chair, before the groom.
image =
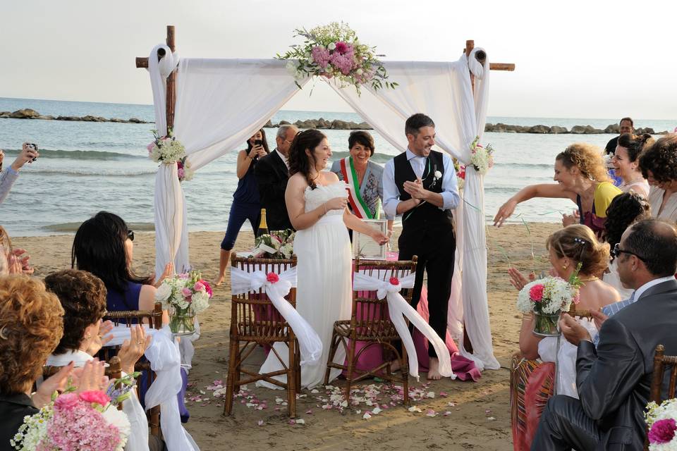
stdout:
{"type": "MultiPolygon", "coordinates": [[[[404,278],[416,272],[417,257],[411,260],[362,260],[355,259],[355,272],[365,276],[390,280],[391,277],[404,278]]],[[[400,294],[411,303],[413,289],[403,289],[400,294]]],[[[353,328],[364,335],[389,334],[393,330],[386,298],[378,299],[374,291],[353,291],[353,307],[350,318],[353,328]]]]}

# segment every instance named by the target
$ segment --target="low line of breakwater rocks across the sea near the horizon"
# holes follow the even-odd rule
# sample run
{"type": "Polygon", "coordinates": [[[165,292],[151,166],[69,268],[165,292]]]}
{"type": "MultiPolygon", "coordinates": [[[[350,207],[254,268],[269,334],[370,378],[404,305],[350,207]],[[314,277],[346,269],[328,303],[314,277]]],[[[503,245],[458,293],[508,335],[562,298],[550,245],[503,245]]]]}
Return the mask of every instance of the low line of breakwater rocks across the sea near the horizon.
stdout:
{"type": "MultiPolygon", "coordinates": [[[[30,108],[20,109],[17,111],[0,111],[1,118],[11,118],[11,119],[39,119],[42,121],[83,121],[83,122],[118,122],[118,123],[134,123],[134,124],[145,124],[152,123],[147,121],[142,121],[138,118],[129,118],[129,119],[118,119],[111,118],[106,119],[101,116],[43,116],[35,110],[30,108]]],[[[276,128],[280,125],[291,125],[290,122],[280,121],[279,123],[273,123],[268,121],[265,128],[276,128]]],[[[306,121],[296,121],[293,123],[298,128],[307,129],[307,128],[317,128],[321,130],[373,130],[372,126],[366,122],[356,123],[353,121],[341,121],[339,119],[334,119],[334,121],[328,121],[324,118],[319,119],[307,119],[306,121]]],[[[568,130],[566,127],[559,127],[558,125],[508,125],[504,123],[487,123],[484,126],[485,132],[497,132],[497,133],[535,133],[539,135],[559,135],[559,134],[571,134],[571,135],[597,135],[600,133],[606,133],[611,135],[618,135],[618,124],[607,125],[604,130],[599,128],[594,128],[592,125],[574,125],[571,130],[568,130]]],[[[638,128],[635,130],[635,133],[649,133],[650,135],[667,135],[669,132],[662,131],[656,132],[653,128],[638,128]]]]}

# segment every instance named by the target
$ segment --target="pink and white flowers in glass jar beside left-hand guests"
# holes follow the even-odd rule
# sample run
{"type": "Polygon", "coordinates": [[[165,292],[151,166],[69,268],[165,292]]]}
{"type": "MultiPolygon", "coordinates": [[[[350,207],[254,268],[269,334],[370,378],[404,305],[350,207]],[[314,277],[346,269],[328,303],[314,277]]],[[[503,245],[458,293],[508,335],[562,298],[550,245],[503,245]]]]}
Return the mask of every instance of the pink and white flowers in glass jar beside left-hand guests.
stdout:
{"type": "Polygon", "coordinates": [[[200,271],[190,271],[164,279],[155,292],[155,300],[170,311],[172,333],[187,335],[195,332],[195,314],[209,307],[212,295],[212,287],[202,279],[200,271]]]}

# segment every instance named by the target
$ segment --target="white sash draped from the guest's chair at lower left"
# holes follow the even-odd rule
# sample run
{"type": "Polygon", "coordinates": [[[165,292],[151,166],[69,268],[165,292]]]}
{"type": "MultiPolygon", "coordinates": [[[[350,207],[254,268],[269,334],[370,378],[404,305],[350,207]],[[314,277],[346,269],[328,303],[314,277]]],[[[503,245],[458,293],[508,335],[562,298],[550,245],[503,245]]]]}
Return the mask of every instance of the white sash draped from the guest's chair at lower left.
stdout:
{"type": "MultiPolygon", "coordinates": [[[[183,383],[178,343],[174,342],[169,326],[157,330],[145,325],[144,329],[147,335],[152,336],[145,356],[157,376],[146,392],[145,409],[160,406],[160,426],[169,451],[200,451],[193,437],[181,425],[181,415],[178,413],[176,395],[181,391],[183,383]]],[[[111,330],[113,340],[106,343],[106,346],[121,345],[129,340],[130,330],[127,326],[115,326],[111,330]]]]}

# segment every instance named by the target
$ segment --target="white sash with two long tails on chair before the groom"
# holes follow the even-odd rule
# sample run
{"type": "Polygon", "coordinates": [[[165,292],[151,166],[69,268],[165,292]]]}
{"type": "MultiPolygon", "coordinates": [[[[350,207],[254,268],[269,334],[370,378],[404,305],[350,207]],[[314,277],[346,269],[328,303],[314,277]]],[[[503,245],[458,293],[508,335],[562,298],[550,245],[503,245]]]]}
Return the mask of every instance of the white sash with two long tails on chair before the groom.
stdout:
{"type": "Polygon", "coordinates": [[[437,335],[433,328],[429,326],[425,319],[422,319],[420,314],[418,314],[418,312],[413,309],[400,294],[402,288],[414,288],[416,274],[411,273],[408,276],[399,278],[399,283],[393,285],[390,283],[390,280],[382,280],[386,276],[386,273],[389,272],[389,270],[373,271],[372,274],[375,276],[367,276],[364,271],[355,271],[355,275],[353,276],[353,290],[376,291],[376,295],[379,299],[386,298],[388,301],[390,320],[393,322],[397,333],[400,335],[405,350],[407,350],[409,374],[411,376],[414,376],[417,381],[419,380],[418,358],[414,340],[411,338],[411,333],[409,332],[409,328],[407,327],[407,323],[405,323],[403,316],[406,316],[407,319],[420,330],[423,335],[425,335],[425,338],[428,339],[430,345],[434,347],[439,359],[439,373],[444,377],[455,379],[456,374],[451,371],[451,358],[449,357],[449,350],[447,350],[444,341],[439,338],[439,335],[437,335]]]}

